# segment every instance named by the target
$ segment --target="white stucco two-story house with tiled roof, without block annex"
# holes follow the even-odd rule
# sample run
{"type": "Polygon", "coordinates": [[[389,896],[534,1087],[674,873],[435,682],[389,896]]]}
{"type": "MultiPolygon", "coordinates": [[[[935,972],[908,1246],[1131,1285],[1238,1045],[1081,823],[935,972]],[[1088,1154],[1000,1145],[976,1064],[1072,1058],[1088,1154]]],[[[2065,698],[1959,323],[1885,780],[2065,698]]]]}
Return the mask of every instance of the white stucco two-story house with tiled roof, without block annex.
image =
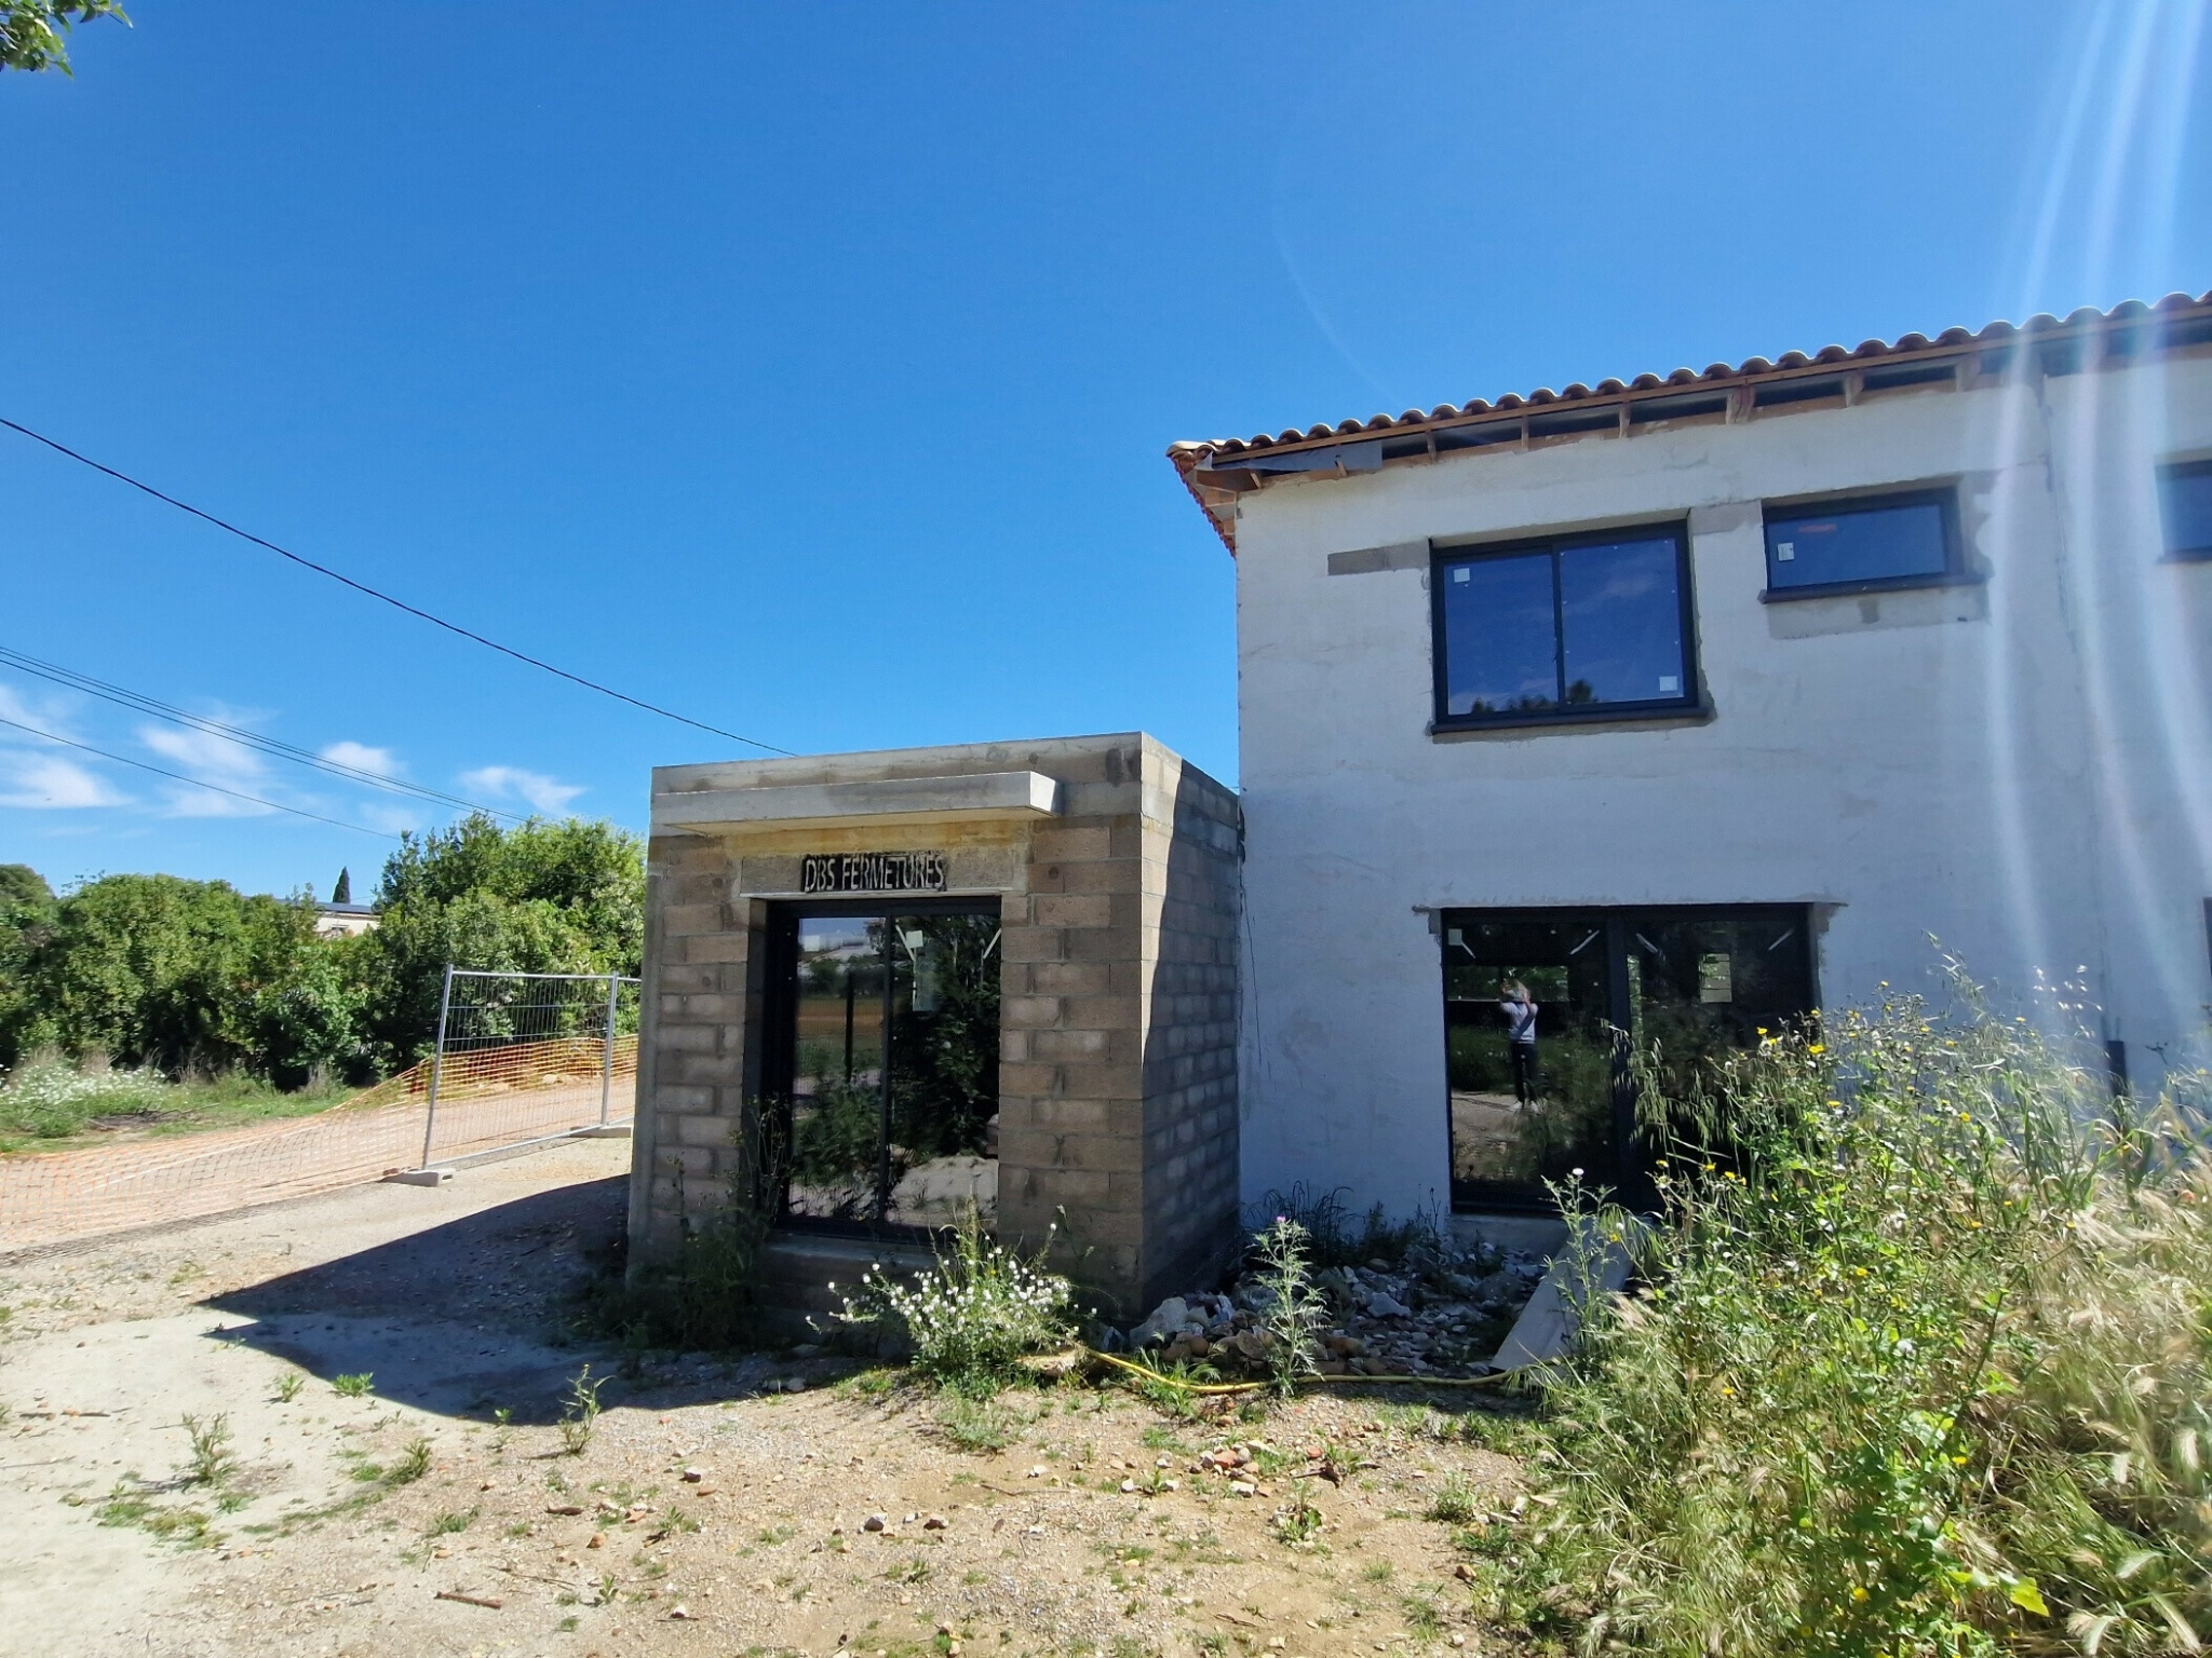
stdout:
{"type": "Polygon", "coordinates": [[[1632,1183],[1608,1024],[1931,935],[2139,1083],[2205,1028],[2212,294],[1170,453],[1237,557],[1245,1200],[1632,1183]]]}

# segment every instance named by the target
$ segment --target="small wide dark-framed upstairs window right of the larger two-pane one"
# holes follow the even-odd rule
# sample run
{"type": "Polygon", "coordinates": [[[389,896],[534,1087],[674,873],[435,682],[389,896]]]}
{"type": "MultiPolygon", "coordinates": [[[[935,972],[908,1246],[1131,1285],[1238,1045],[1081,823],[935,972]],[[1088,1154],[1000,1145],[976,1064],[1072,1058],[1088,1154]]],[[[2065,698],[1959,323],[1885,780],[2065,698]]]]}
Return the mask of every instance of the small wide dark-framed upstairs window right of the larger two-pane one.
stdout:
{"type": "Polygon", "coordinates": [[[1949,489],[1770,502],[1765,520],[1763,599],[1940,588],[1969,579],[1958,493],[1949,489]]]}

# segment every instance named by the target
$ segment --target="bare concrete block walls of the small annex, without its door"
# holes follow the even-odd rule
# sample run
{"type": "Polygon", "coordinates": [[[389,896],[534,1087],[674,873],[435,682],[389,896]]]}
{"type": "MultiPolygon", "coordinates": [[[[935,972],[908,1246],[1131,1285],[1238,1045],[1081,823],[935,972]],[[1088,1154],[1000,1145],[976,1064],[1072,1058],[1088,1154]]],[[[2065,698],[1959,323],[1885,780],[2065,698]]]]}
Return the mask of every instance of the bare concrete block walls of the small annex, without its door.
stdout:
{"type": "Polygon", "coordinates": [[[998,895],[998,1229],[1128,1311],[1234,1249],[1237,798],[1144,734],[655,772],[655,794],[1029,767],[1051,818],[655,833],[630,1187],[637,1258],[723,1203],[759,1099],[768,898],[803,853],[931,847],[998,895]]]}

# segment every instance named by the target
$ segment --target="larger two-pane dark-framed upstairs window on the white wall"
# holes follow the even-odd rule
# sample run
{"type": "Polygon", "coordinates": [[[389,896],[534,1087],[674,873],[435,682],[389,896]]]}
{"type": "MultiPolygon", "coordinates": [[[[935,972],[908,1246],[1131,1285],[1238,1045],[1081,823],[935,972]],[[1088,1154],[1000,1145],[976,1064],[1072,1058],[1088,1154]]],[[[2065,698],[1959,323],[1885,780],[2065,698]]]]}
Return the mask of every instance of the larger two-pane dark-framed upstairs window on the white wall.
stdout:
{"type": "Polygon", "coordinates": [[[1697,707],[1679,522],[1438,548],[1429,586],[1438,730],[1697,707]]]}

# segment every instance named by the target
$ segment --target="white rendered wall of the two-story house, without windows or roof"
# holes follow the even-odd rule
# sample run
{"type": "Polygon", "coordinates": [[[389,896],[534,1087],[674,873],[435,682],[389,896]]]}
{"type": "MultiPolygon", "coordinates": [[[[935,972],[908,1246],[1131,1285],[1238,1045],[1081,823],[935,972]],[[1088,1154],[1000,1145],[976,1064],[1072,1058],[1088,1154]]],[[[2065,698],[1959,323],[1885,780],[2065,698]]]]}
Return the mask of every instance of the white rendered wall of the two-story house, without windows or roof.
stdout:
{"type": "Polygon", "coordinates": [[[1245,495],[1243,1187],[1449,1200],[1427,909],[1834,906],[1827,1004],[2086,968],[2137,1077],[2212,999],[2212,566],[2152,466],[2212,451],[2212,360],[1909,391],[1245,495]],[[1986,586],[1763,606],[1761,500],[1960,480],[1986,586]],[[1690,520],[1712,718],[1431,738],[1425,570],[1349,548],[1690,520]]]}

